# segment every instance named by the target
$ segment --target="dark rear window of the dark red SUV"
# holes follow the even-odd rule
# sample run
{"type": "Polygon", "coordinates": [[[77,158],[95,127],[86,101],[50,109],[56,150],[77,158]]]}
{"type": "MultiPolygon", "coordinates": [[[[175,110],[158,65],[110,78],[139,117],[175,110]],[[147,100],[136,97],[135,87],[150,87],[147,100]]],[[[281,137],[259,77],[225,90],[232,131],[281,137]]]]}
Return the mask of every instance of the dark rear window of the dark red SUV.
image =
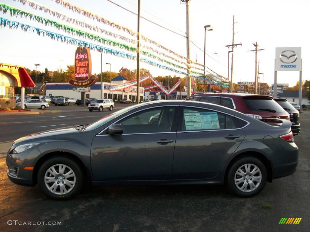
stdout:
{"type": "Polygon", "coordinates": [[[242,100],[251,111],[284,112],[284,109],[273,99],[242,98],[242,100]]]}

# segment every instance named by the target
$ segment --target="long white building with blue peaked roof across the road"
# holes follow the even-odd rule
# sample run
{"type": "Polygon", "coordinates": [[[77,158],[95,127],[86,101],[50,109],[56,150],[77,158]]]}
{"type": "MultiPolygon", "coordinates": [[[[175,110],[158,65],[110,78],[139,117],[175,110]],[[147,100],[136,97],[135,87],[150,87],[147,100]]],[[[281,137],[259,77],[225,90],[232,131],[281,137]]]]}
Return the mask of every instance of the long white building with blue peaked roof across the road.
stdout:
{"type": "MultiPolygon", "coordinates": [[[[126,84],[129,80],[127,80],[122,75],[119,75],[111,80],[111,87],[117,86],[120,84],[126,84]]],[[[86,92],[86,98],[96,98],[100,99],[100,82],[96,82],[94,85],[90,87],[90,92],[86,92]]],[[[137,87],[130,86],[124,87],[118,90],[111,89],[111,96],[110,93],[110,83],[103,82],[103,91],[102,95],[103,98],[111,98],[113,101],[119,101],[123,98],[130,99],[131,101],[136,101],[137,95],[137,87]]],[[[143,101],[143,87],[139,88],[140,91],[140,102],[143,101]]],[[[74,97],[74,98],[81,98],[81,92],[78,92],[78,87],[75,87],[69,83],[47,83],[46,85],[46,96],[64,96],[64,97],[74,97]]]]}

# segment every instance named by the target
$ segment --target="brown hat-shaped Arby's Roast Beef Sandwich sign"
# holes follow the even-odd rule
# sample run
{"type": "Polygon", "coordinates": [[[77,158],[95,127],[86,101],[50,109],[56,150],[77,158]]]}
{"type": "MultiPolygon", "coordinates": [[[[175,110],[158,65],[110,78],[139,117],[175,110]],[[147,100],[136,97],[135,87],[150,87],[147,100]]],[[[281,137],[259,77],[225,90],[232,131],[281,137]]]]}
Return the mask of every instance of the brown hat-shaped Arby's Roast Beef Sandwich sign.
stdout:
{"type": "Polygon", "coordinates": [[[91,53],[87,47],[78,47],[74,56],[74,79],[69,84],[83,87],[91,86],[98,80],[97,75],[91,75],[91,53]]]}

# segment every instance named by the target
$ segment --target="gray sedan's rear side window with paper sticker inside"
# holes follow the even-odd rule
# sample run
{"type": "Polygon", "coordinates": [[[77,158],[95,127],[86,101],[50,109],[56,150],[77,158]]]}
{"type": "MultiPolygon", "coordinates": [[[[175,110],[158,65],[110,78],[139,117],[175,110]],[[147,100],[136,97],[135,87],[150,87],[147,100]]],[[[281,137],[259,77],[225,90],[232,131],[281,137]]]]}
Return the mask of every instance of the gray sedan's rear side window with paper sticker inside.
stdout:
{"type": "Polygon", "coordinates": [[[182,131],[206,131],[239,128],[233,116],[212,110],[184,107],[182,131]]]}

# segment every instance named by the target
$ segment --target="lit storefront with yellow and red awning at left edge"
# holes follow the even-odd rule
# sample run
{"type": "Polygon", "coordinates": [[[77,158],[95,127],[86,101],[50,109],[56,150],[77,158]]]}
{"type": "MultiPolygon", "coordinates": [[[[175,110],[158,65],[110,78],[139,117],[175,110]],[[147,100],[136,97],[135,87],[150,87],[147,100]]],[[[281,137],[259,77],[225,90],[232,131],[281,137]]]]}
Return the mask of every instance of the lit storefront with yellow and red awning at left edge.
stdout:
{"type": "Polygon", "coordinates": [[[31,77],[23,66],[0,63],[0,107],[15,105],[15,87],[21,88],[22,107],[24,107],[25,87],[35,87],[31,77]],[[7,105],[7,101],[10,104],[7,105]]]}

